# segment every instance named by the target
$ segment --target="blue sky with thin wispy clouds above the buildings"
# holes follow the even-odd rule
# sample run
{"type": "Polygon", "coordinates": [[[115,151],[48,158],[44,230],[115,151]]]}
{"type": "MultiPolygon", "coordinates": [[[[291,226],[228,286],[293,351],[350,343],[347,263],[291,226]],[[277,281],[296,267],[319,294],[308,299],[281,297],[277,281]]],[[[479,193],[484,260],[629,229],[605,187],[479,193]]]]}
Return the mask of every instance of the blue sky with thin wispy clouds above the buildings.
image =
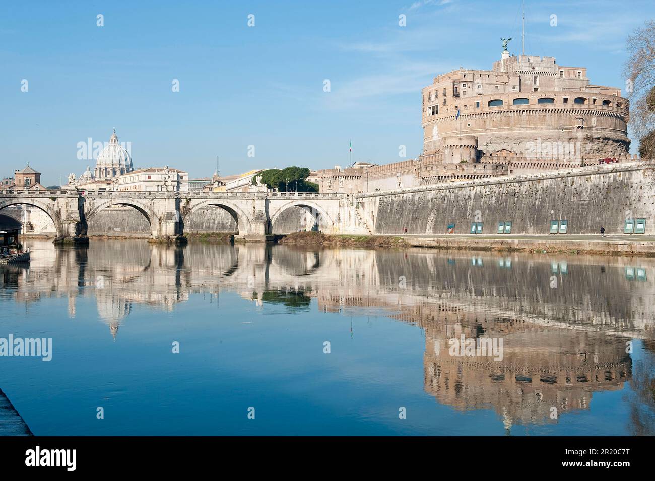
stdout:
{"type": "MultiPolygon", "coordinates": [[[[77,143],[106,142],[113,127],[135,167],[194,177],[212,175],[217,155],[223,175],[344,166],[350,138],[353,160],[396,162],[400,145],[413,158],[421,88],[451,69],[491,68],[500,37],[520,53],[520,10],[519,0],[7,2],[0,175],[26,162],[45,185],[80,175],[94,161],[77,158],[77,143]]],[[[624,88],[626,36],[653,17],[650,0],[528,0],[525,51],[624,88]]]]}

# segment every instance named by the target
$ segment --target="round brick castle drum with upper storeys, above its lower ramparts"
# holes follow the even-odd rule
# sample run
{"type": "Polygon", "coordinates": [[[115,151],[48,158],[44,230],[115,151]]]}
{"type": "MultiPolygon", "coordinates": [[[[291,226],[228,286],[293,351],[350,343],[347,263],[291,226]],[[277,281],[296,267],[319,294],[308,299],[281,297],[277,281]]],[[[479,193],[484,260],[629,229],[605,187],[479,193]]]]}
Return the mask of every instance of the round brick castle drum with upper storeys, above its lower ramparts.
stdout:
{"type": "Polygon", "coordinates": [[[586,69],[560,67],[552,57],[504,52],[491,71],[440,75],[422,90],[422,107],[423,154],[443,155],[443,162],[455,159],[451,153],[447,160],[453,137],[476,137],[477,161],[498,151],[578,161],[629,151],[621,90],[592,85],[586,69]]]}

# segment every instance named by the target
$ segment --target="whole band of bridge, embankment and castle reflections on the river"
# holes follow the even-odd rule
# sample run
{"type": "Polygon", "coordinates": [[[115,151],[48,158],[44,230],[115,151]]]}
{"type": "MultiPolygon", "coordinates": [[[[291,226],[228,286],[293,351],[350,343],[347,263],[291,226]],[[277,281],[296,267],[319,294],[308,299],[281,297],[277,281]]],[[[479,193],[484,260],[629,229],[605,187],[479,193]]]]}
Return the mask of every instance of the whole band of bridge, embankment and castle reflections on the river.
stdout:
{"type": "Polygon", "coordinates": [[[558,417],[588,409],[593,393],[631,381],[626,342],[655,345],[650,259],[138,241],[33,241],[33,252],[29,271],[3,270],[16,302],[67,296],[74,317],[75,299],[93,296],[114,337],[136,306],[171,311],[221,290],[260,305],[307,308],[316,298],[322,312],[363,308],[415,323],[426,336],[426,392],[458,409],[493,408],[506,427],[553,421],[553,406],[558,417]],[[626,274],[635,267],[643,279],[626,274]],[[461,334],[503,338],[502,361],[449,355],[448,340],[461,334]]]}

